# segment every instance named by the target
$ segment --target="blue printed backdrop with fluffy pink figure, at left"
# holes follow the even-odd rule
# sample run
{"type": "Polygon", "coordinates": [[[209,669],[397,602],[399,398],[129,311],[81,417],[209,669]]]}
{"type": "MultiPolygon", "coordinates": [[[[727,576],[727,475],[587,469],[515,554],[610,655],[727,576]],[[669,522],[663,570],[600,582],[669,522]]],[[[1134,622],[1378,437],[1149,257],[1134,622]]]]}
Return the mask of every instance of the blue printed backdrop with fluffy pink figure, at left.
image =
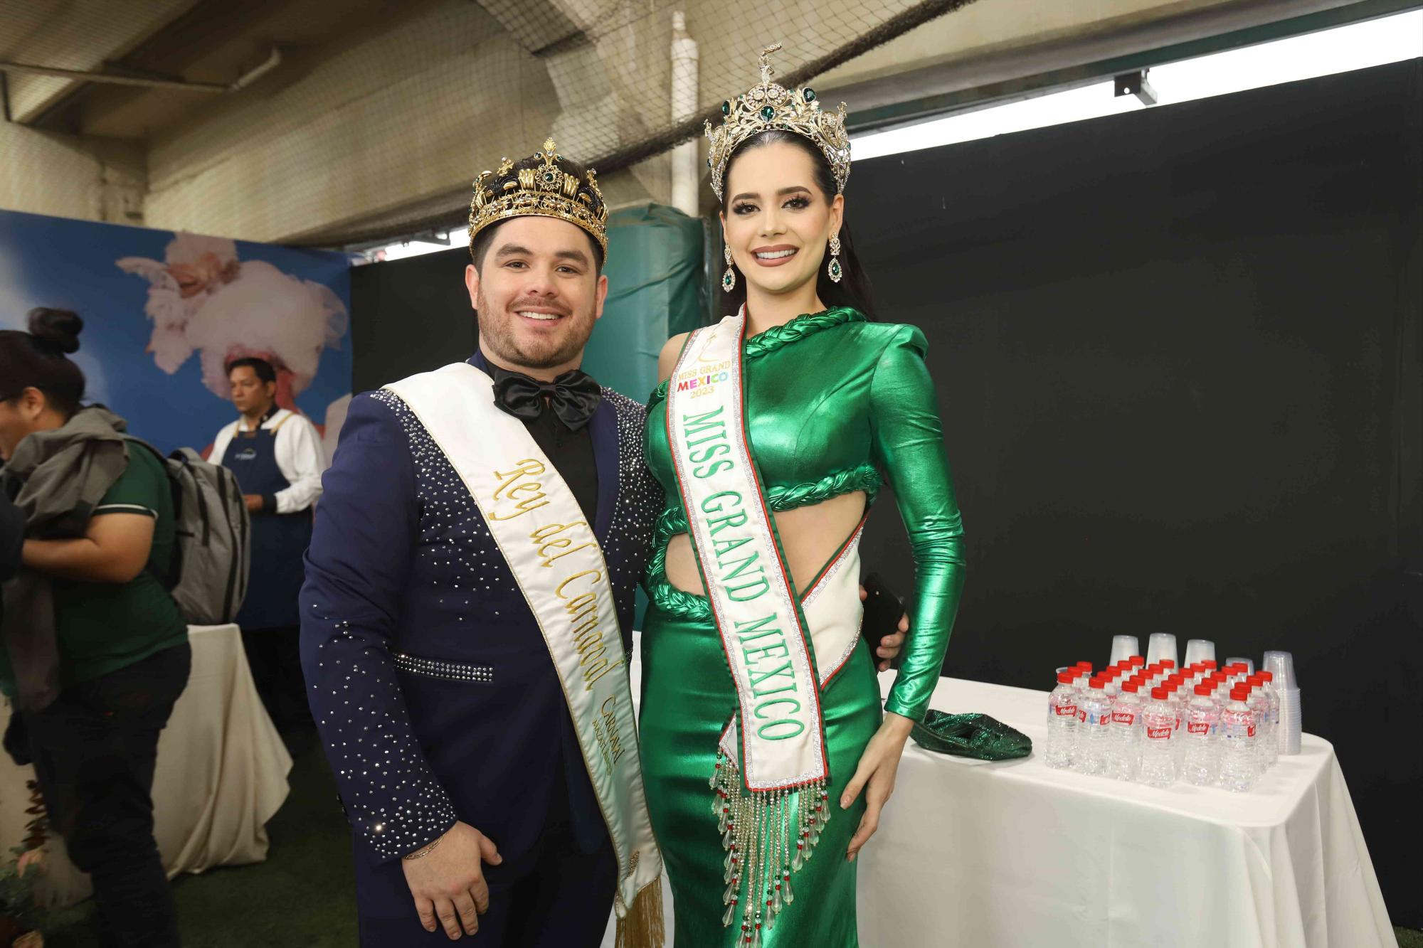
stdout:
{"type": "Polygon", "coordinates": [[[330,460],[351,387],[344,255],[0,211],[0,329],[34,306],[84,317],[87,400],[159,450],[211,446],[236,417],[223,366],[262,356],[330,460]]]}

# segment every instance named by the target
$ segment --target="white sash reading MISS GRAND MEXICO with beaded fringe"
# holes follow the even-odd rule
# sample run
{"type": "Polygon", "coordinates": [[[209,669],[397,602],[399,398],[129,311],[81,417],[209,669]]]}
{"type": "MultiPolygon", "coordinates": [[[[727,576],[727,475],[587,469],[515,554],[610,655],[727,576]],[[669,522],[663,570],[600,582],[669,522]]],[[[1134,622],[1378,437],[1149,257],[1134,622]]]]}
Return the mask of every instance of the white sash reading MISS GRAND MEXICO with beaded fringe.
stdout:
{"type": "Polygon", "coordinates": [[[740,907],[741,944],[757,948],[830,820],[820,692],[859,638],[861,530],[801,599],[750,451],[744,337],[743,307],[687,339],[667,383],[667,444],[737,692],[709,781],[727,850],[721,922],[740,907]]]}

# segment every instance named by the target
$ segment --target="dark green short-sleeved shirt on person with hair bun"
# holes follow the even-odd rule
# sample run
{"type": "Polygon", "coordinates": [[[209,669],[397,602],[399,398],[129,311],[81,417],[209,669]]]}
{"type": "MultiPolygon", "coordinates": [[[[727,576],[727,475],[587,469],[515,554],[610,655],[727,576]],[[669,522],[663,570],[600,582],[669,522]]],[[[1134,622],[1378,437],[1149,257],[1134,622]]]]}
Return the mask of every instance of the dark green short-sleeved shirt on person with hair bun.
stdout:
{"type": "MultiPolygon", "coordinates": [[[[178,604],[158,579],[168,575],[175,541],[168,474],[141,444],[128,446],[128,470],[94,508],[95,517],[107,514],[152,517],[154,547],[148,568],[128,582],[54,579],[61,686],[107,675],[188,639],[178,604]]],[[[14,693],[13,678],[10,656],[0,648],[0,690],[6,695],[14,693]]]]}

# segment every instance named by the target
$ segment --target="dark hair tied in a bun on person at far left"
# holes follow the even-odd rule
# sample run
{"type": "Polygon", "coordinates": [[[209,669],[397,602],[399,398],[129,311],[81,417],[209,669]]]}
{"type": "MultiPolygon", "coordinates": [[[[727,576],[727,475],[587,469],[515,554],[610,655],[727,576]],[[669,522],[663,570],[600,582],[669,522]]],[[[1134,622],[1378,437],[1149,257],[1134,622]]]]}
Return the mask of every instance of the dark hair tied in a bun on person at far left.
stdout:
{"type": "Polygon", "coordinates": [[[50,407],[70,418],[84,399],[84,373],[65,359],[80,349],[84,320],[67,309],[31,309],[30,332],[0,330],[0,401],[26,389],[44,393],[50,407]]]}

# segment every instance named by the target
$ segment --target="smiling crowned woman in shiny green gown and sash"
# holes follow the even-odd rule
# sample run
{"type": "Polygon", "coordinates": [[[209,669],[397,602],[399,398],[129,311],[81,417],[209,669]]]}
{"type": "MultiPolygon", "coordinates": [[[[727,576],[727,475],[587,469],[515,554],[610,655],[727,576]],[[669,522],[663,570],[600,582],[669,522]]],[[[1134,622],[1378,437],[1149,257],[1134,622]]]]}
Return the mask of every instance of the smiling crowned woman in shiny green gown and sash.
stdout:
{"type": "Polygon", "coordinates": [[[647,568],[643,771],[676,944],[693,948],[858,944],[855,855],[938,682],[963,575],[924,336],[867,319],[844,105],[771,83],[777,48],[707,125],[723,289],[744,305],[667,343],[646,428],[667,507],[647,568]],[[882,717],[855,591],[881,477],[918,565],[882,717]]]}

